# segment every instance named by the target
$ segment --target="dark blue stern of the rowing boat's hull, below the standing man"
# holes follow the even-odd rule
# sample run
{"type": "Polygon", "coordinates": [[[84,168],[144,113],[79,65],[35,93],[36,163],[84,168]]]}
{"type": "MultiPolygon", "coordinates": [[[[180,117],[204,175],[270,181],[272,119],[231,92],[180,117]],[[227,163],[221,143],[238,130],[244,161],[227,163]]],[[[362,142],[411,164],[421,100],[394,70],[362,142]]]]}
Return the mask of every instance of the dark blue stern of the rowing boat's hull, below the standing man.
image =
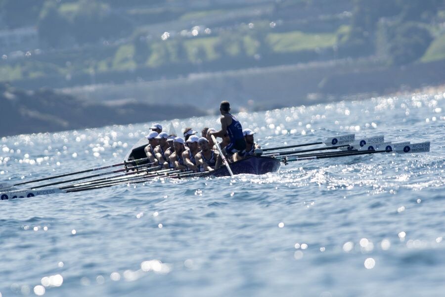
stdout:
{"type": "MultiPolygon", "coordinates": [[[[245,159],[230,163],[233,174],[266,174],[276,172],[280,169],[280,161],[271,157],[251,156],[245,159]]],[[[213,176],[230,176],[224,165],[218,170],[212,171],[213,176]]]]}

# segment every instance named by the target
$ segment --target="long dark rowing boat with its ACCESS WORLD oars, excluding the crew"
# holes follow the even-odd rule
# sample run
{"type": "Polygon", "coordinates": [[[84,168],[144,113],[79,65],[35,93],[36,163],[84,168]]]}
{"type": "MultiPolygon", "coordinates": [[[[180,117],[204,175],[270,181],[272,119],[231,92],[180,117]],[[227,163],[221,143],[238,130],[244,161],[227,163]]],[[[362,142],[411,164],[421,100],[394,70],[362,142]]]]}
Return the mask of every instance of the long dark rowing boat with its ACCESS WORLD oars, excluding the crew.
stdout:
{"type": "MultiPolygon", "coordinates": [[[[218,144],[215,140],[215,143],[218,144]]],[[[69,172],[50,176],[46,178],[34,179],[15,184],[1,183],[0,198],[1,200],[15,198],[30,198],[41,195],[50,195],[58,193],[81,192],[94,189],[101,189],[123,184],[146,183],[156,179],[181,179],[191,177],[222,177],[233,176],[236,174],[266,174],[276,172],[280,168],[280,164],[288,165],[290,162],[337,158],[346,156],[366,155],[373,153],[419,153],[429,152],[430,142],[414,143],[401,142],[392,143],[385,142],[384,136],[374,136],[368,138],[357,139],[355,134],[347,134],[334,136],[322,142],[312,142],[306,144],[297,144],[290,146],[281,146],[274,148],[256,149],[255,155],[245,159],[228,163],[225,166],[214,171],[206,172],[181,172],[175,169],[164,169],[150,163],[148,158],[141,157],[141,149],[143,151],[144,140],[140,140],[127,154],[126,159],[121,163],[100,166],[91,169],[69,172]],[[311,147],[316,145],[324,145],[322,147],[296,149],[302,147],[311,147]],[[291,150],[283,150],[292,148],[291,150]],[[274,152],[271,152],[274,151],[274,152]],[[113,167],[121,167],[120,169],[109,170],[113,167]],[[56,182],[45,183],[27,189],[17,189],[17,186],[59,179],[67,176],[80,175],[93,171],[108,170],[101,173],[89,174],[71,179],[59,180],[56,182]],[[103,177],[108,175],[106,177],[103,177]],[[85,180],[85,181],[83,181],[85,180]],[[79,182],[82,181],[82,182],[79,182]],[[68,184],[56,188],[48,188],[54,185],[68,184]]],[[[219,150],[219,146],[217,146],[219,150]]]]}

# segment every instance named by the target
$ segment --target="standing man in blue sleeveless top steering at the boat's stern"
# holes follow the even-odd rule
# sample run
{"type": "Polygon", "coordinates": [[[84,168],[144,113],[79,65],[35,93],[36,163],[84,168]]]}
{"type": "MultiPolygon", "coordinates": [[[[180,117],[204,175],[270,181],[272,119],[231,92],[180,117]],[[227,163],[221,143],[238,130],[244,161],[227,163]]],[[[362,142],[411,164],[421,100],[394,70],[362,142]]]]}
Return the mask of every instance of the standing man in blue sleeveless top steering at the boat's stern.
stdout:
{"type": "MultiPolygon", "coordinates": [[[[210,134],[214,135],[215,137],[223,137],[225,133],[228,133],[230,143],[223,148],[223,154],[228,157],[237,152],[238,156],[244,157],[244,154],[246,153],[246,141],[244,140],[243,127],[241,126],[239,120],[229,113],[230,103],[228,101],[221,102],[220,112],[222,115],[221,130],[218,132],[211,132],[210,134]]],[[[237,161],[236,155],[234,156],[233,160],[237,161]]],[[[222,162],[222,156],[218,156],[215,169],[220,168],[222,162]]]]}

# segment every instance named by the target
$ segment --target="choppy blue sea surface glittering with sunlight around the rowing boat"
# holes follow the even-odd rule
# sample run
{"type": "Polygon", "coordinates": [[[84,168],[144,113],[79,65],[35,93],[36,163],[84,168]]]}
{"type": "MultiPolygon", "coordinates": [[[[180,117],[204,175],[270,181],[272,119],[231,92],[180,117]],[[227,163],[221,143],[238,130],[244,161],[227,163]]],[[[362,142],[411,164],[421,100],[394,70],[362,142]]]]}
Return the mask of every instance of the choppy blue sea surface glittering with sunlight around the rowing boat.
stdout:
{"type": "MultiPolygon", "coordinates": [[[[441,295],[444,97],[239,114],[264,147],[355,132],[431,141],[429,153],[0,201],[1,295],[441,295]]],[[[118,163],[151,124],[3,138],[1,181],[118,163]]]]}

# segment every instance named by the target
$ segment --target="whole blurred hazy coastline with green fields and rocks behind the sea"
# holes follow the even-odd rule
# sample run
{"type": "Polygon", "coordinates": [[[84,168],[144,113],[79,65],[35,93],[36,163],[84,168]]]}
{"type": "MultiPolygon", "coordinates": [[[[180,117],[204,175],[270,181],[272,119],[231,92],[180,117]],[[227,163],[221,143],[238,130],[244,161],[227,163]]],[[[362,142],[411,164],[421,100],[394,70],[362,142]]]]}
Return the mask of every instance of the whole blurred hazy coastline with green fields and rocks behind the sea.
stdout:
{"type": "Polygon", "coordinates": [[[0,136],[211,115],[221,100],[259,111],[445,84],[445,0],[0,8],[0,136]]]}

